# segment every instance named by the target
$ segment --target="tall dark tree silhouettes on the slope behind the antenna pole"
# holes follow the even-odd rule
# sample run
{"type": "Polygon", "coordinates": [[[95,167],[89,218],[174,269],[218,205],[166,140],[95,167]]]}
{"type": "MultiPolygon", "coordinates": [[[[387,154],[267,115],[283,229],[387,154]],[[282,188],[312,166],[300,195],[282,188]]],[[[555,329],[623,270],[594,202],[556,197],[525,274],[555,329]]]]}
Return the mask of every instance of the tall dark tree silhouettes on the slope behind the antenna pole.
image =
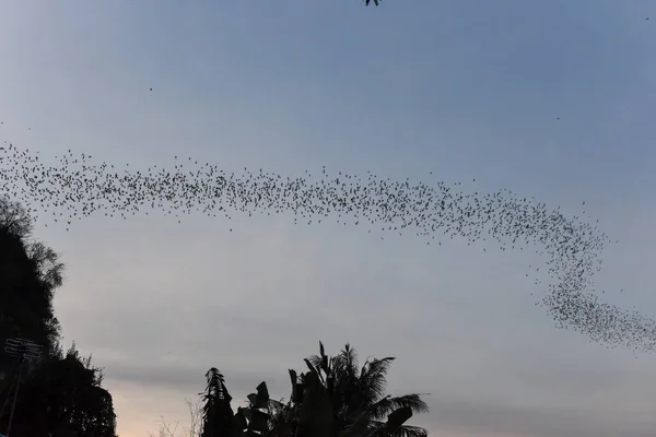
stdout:
{"type": "Polygon", "coordinates": [[[0,353],[0,434],[7,433],[20,371],[11,435],[21,437],[115,437],[112,395],[103,373],[80,355],[65,351],[52,309],[62,283],[57,253],[32,238],[32,220],[16,202],[0,199],[0,342],[27,339],[43,346],[38,362],[0,353]]]}

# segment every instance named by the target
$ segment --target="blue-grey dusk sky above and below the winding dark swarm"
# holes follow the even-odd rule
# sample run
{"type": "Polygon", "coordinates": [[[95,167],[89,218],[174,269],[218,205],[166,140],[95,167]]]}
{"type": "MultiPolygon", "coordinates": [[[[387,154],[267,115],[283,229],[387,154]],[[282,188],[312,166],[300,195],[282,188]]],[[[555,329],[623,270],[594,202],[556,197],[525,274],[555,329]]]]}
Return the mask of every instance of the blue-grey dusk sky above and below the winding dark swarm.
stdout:
{"type": "MultiPolygon", "coordinates": [[[[585,201],[619,240],[599,290],[651,315],[655,25],[648,0],[5,0],[0,138],[137,168],[179,154],[507,188],[571,214],[585,201]]],[[[431,435],[656,427],[655,357],[557,329],[527,251],[289,214],[35,234],[67,264],[62,334],[105,369],[121,437],[187,423],[212,366],[235,399],[262,380],[286,398],[319,340],[396,356],[389,391],[430,393],[412,423],[431,435]]]]}

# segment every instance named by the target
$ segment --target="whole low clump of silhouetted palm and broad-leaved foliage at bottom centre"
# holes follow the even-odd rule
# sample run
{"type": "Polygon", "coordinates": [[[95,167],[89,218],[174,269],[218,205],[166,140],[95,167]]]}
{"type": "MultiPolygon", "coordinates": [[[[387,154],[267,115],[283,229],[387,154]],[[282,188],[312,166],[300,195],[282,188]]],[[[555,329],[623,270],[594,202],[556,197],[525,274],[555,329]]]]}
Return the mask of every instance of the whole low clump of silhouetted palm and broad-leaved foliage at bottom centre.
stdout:
{"type": "MultiPolygon", "coordinates": [[[[367,359],[362,366],[349,344],[336,356],[305,359],[305,373],[289,370],[289,400],[273,400],[266,382],[233,409],[223,375],[211,368],[202,397],[200,437],[425,437],[406,423],[426,412],[419,394],[391,397],[386,375],[394,357],[367,359]]],[[[165,434],[165,433],[163,433],[165,434]]]]}

